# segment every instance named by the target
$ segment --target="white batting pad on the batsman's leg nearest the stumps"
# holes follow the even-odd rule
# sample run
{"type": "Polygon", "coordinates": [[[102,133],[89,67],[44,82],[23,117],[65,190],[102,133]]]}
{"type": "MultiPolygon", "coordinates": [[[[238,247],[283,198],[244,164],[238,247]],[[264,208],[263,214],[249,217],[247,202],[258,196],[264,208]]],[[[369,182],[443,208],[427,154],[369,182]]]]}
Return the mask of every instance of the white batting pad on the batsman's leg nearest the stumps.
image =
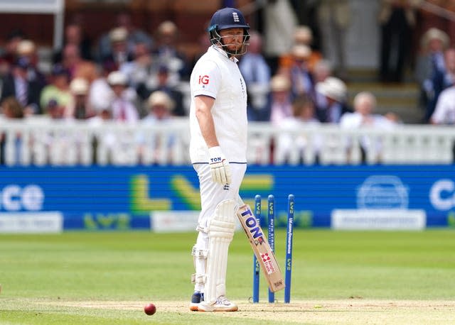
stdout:
{"type": "Polygon", "coordinates": [[[232,199],[220,202],[208,224],[207,278],[204,290],[204,300],[208,304],[215,303],[218,297],[226,294],[228,250],[235,231],[234,204],[232,199]]]}

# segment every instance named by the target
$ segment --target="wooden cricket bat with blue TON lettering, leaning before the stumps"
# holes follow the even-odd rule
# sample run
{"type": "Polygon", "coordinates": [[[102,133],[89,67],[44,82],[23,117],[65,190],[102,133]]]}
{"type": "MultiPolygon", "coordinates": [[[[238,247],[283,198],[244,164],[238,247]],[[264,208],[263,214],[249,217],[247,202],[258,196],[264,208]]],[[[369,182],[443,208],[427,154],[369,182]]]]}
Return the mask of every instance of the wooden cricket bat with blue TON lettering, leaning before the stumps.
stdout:
{"type": "Polygon", "coordinates": [[[277,258],[275,258],[272,248],[269,246],[267,238],[264,236],[261,226],[257,223],[255,215],[250,206],[245,204],[237,211],[237,216],[242,224],[243,230],[247,234],[253,252],[264,271],[265,278],[269,283],[270,291],[277,292],[284,289],[284,278],[280,270],[277,258]]]}

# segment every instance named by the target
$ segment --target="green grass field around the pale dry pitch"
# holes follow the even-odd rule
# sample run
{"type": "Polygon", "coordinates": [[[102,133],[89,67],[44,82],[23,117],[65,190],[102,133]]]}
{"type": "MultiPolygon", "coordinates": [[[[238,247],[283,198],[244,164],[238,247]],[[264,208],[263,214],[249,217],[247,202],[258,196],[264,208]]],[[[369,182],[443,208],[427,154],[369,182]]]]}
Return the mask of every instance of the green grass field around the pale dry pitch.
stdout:
{"type": "MultiPolygon", "coordinates": [[[[275,236],[282,267],[284,236],[284,231],[275,236]]],[[[291,299],[454,299],[454,236],[449,230],[295,231],[291,299]]],[[[113,310],[58,304],[87,300],[178,301],[185,312],[157,313],[154,321],[199,322],[200,313],[186,312],[193,291],[189,279],[194,272],[191,247],[195,240],[196,233],[0,235],[0,324],[151,321],[141,312],[142,305],[137,310],[113,310]]],[[[267,299],[264,282],[262,277],[262,301],[267,299]]],[[[228,297],[245,302],[251,291],[252,250],[239,232],[230,248],[228,297]]],[[[276,297],[282,301],[283,292],[276,297]]],[[[216,319],[211,314],[204,318],[207,324],[219,322],[216,319]]]]}

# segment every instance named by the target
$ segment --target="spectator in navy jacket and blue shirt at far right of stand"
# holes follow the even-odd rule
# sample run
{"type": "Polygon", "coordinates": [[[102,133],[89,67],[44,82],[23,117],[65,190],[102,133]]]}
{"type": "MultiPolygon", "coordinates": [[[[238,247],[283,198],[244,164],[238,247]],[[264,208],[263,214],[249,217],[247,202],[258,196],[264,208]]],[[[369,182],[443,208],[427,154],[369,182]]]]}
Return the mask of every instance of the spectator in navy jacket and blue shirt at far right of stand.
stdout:
{"type": "Polygon", "coordinates": [[[415,78],[421,89],[421,105],[424,107],[424,121],[429,121],[436,106],[437,97],[432,79],[444,74],[444,50],[449,46],[449,35],[437,28],[430,28],[421,40],[421,52],[417,56],[415,78]]]}

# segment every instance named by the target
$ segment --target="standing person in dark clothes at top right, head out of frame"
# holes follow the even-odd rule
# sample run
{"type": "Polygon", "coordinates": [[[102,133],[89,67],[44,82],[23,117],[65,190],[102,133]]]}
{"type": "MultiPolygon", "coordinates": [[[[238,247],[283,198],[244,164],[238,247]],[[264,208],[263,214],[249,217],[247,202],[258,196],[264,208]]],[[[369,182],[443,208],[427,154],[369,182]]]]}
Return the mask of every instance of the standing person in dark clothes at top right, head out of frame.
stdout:
{"type": "Polygon", "coordinates": [[[415,0],[381,1],[379,21],[381,27],[380,79],[382,82],[402,82],[406,59],[412,46],[416,6],[415,0]]]}

